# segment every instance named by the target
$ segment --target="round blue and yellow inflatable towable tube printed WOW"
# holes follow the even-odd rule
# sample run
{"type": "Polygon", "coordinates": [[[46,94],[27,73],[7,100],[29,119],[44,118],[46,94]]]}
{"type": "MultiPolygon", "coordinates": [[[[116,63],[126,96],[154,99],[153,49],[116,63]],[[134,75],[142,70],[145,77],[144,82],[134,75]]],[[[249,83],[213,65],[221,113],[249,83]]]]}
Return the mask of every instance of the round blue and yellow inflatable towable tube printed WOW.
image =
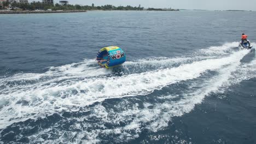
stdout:
{"type": "Polygon", "coordinates": [[[111,68],[123,64],[126,60],[125,53],[120,47],[108,46],[98,51],[97,62],[103,68],[111,68]]]}

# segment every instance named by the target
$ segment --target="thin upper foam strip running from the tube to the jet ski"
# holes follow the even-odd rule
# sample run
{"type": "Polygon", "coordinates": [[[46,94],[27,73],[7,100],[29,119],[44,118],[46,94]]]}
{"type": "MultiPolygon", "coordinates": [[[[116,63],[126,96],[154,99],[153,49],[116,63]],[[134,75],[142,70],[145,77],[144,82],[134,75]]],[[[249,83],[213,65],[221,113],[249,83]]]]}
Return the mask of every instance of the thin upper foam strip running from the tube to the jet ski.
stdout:
{"type": "Polygon", "coordinates": [[[126,62],[123,64],[125,73],[132,74],[156,69],[165,69],[170,67],[177,67],[178,65],[191,63],[194,61],[201,61],[208,58],[220,58],[228,56],[234,52],[234,48],[238,46],[238,42],[226,43],[222,46],[211,46],[208,49],[201,49],[194,53],[189,53],[186,57],[149,57],[144,59],[137,59],[135,62],[126,62]]]}

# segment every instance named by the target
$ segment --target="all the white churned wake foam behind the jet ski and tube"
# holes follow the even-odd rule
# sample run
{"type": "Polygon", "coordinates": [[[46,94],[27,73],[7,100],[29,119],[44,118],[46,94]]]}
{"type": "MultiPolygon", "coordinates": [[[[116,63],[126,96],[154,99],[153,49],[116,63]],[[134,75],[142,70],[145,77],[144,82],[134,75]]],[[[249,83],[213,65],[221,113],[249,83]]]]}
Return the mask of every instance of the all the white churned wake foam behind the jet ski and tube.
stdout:
{"type": "Polygon", "coordinates": [[[72,127],[83,128],[82,131],[56,129],[61,135],[59,139],[40,140],[40,135],[49,134],[49,131],[55,129],[50,127],[30,136],[30,140],[42,143],[71,143],[66,141],[65,137],[69,137],[69,140],[75,137],[73,143],[97,143],[101,141],[99,135],[118,135],[114,138],[118,142],[135,139],[143,129],[158,131],[166,127],[173,116],[182,116],[193,110],[208,93],[221,91],[222,88],[234,83],[255,77],[255,59],[245,64],[241,62],[251,50],[235,51],[233,48],[236,46],[237,42],[227,43],[193,54],[201,57],[152,57],[139,59],[137,62],[126,62],[121,69],[128,72],[121,75],[113,74],[111,69],[99,68],[92,59],[85,59],[80,63],[51,67],[41,74],[21,73],[2,77],[0,129],[16,122],[43,118],[53,113],[79,112],[81,107],[86,107],[83,111],[92,111],[90,115],[69,117],[65,120],[75,119],[77,123],[72,127]],[[131,104],[124,99],[118,105],[114,105],[115,109],[125,109],[120,112],[107,110],[101,104],[106,99],[143,97],[174,83],[200,79],[209,71],[217,74],[209,79],[201,78],[203,84],[200,86],[196,82],[191,82],[190,90],[182,93],[182,98],[178,100],[172,99],[181,95],[160,95],[161,99],[167,99],[164,103],[144,101],[144,108],[141,108],[139,104],[131,104]],[[100,104],[88,107],[96,102],[100,104]],[[84,122],[84,119],[91,117],[98,117],[100,121],[84,122]],[[120,122],[126,125],[112,129],[104,127],[104,123],[120,122]],[[88,131],[92,127],[95,129],[88,131]],[[83,139],[84,137],[86,139],[83,139]]]}

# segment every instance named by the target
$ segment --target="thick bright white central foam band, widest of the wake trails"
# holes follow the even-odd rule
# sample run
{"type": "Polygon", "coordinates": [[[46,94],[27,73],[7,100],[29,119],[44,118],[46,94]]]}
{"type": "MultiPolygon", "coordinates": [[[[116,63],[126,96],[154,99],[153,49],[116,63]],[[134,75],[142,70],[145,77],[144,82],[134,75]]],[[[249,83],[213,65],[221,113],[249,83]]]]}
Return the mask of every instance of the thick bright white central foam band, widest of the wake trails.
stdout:
{"type": "Polygon", "coordinates": [[[6,101],[0,111],[3,116],[0,119],[0,129],[28,118],[43,117],[62,110],[76,111],[79,107],[104,99],[149,94],[171,83],[195,79],[206,70],[217,70],[240,61],[247,52],[238,51],[223,58],[206,59],[176,68],[139,74],[79,80],[65,77],[57,82],[5,88],[0,94],[0,101],[6,101]]]}

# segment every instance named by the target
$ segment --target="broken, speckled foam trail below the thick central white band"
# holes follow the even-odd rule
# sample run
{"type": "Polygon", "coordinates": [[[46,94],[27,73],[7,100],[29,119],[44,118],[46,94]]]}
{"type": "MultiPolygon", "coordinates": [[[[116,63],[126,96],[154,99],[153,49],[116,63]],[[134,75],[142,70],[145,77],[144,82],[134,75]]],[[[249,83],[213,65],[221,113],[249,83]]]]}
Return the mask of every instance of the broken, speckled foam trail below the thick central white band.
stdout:
{"type": "MultiPolygon", "coordinates": [[[[238,53],[245,54],[246,52],[248,51],[242,51],[238,53]]],[[[234,58],[234,61],[230,61],[228,65],[226,65],[227,63],[224,63],[226,67],[217,69],[218,75],[211,77],[210,80],[205,80],[203,85],[200,84],[200,88],[195,89],[193,87],[198,87],[197,84],[192,84],[191,92],[183,93],[184,97],[178,101],[166,100],[164,103],[156,104],[143,102],[143,108],[135,103],[132,104],[132,106],[128,109],[125,109],[121,112],[113,111],[111,109],[109,110],[102,105],[96,105],[91,107],[91,109],[93,109],[91,115],[80,118],[72,117],[68,120],[73,122],[73,120],[76,119],[78,123],[73,124],[72,128],[84,129],[84,131],[75,132],[75,134],[71,134],[66,131],[65,134],[67,137],[73,137],[75,135],[75,138],[72,141],[73,143],[99,143],[102,141],[100,138],[102,135],[111,135],[113,136],[112,139],[114,139],[115,142],[124,142],[135,139],[144,129],[150,131],[158,131],[159,129],[166,127],[168,122],[171,121],[172,117],[182,116],[184,113],[190,112],[194,109],[196,104],[201,103],[203,98],[205,98],[208,93],[218,92],[219,87],[222,87],[223,83],[229,83],[232,81],[232,79],[230,79],[232,73],[234,73],[237,67],[240,67],[241,65],[240,59],[242,57],[236,56],[239,55],[237,54],[231,56],[234,58]],[[98,119],[101,119],[101,121],[92,124],[84,122],[84,119],[91,119],[92,117],[98,117],[98,119]],[[110,129],[104,126],[105,123],[110,123],[111,125],[119,125],[120,122],[126,123],[126,125],[123,127],[119,126],[110,129]],[[90,128],[93,130],[87,131],[87,129],[90,128]]],[[[213,60],[211,62],[213,62],[213,60]]],[[[213,65],[212,63],[208,64],[213,65]]],[[[169,95],[164,97],[169,97],[169,95]]],[[[114,107],[116,109],[124,109],[124,107],[127,105],[130,105],[130,102],[123,100],[118,105],[114,105],[114,107]]],[[[39,135],[30,136],[30,139],[36,140],[38,137],[40,137],[40,135],[46,133],[49,133],[49,131],[41,131],[39,135]]],[[[67,142],[65,141],[64,137],[60,138],[61,139],[54,140],[54,142],[67,142]]],[[[45,143],[51,142],[53,141],[45,141],[45,143]]],[[[68,142],[70,143],[71,141],[68,142]]]]}

